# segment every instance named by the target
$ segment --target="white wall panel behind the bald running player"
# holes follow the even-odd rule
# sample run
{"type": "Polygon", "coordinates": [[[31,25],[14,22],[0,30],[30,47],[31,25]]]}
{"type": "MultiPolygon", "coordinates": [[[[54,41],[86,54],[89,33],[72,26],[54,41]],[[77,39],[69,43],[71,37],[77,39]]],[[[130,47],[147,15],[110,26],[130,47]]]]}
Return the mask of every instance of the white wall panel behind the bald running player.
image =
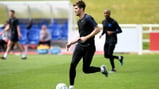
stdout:
{"type": "MultiPolygon", "coordinates": [[[[122,33],[118,34],[118,43],[115,48],[115,52],[136,52],[139,53],[142,51],[142,29],[137,25],[134,26],[121,26],[122,33]]],[[[103,51],[105,35],[99,39],[99,35],[102,31],[97,34],[96,41],[96,50],[103,51]]]]}

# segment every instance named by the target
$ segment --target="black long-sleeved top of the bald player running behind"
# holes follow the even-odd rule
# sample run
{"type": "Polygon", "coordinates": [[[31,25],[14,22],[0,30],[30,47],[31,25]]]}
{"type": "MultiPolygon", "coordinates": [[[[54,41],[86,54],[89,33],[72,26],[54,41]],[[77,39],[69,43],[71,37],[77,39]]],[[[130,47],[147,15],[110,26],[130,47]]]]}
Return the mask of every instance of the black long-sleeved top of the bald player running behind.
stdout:
{"type": "Polygon", "coordinates": [[[118,25],[117,21],[113,18],[105,19],[102,21],[103,32],[102,35],[106,33],[106,43],[117,43],[117,33],[121,33],[122,30],[118,25]],[[107,31],[112,31],[113,34],[108,35],[107,31]]]}

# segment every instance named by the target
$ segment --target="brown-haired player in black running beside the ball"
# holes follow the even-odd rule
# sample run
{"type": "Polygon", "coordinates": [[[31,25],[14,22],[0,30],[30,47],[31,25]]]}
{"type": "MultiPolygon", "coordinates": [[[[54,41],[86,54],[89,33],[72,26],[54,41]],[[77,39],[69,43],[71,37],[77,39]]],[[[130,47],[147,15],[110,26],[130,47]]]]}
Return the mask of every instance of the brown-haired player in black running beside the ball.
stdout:
{"type": "Polygon", "coordinates": [[[97,33],[100,32],[100,29],[98,28],[97,23],[95,22],[93,17],[84,12],[86,7],[84,1],[79,0],[73,6],[76,16],[79,16],[80,18],[78,20],[78,29],[80,36],[66,45],[66,48],[68,50],[72,44],[77,43],[70,64],[69,89],[74,89],[76,67],[81,58],[83,58],[84,73],[102,72],[102,74],[104,74],[106,77],[108,76],[105,65],[102,65],[101,67],[91,66],[92,58],[95,52],[94,37],[97,33]]]}

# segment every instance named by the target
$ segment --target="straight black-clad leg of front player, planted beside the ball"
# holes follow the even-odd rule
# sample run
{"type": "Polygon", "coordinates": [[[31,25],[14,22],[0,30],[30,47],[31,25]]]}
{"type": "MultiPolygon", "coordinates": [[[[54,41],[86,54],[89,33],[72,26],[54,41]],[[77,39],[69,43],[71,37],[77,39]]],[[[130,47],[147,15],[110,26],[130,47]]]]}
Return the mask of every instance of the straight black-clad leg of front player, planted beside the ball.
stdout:
{"type": "Polygon", "coordinates": [[[74,86],[74,81],[76,77],[76,67],[82,56],[83,56],[83,48],[77,45],[73,53],[72,61],[70,64],[70,72],[69,72],[70,87],[74,86]]]}

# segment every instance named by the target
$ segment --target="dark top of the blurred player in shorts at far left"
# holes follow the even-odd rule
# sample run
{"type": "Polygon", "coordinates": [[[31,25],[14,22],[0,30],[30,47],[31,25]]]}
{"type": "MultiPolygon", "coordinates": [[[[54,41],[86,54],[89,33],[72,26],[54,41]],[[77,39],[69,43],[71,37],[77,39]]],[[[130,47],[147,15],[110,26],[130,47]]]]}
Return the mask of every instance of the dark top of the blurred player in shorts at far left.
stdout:
{"type": "Polygon", "coordinates": [[[16,18],[10,18],[9,21],[10,31],[11,31],[11,38],[17,38],[18,39],[18,32],[17,32],[17,26],[19,25],[19,21],[16,18]]]}

